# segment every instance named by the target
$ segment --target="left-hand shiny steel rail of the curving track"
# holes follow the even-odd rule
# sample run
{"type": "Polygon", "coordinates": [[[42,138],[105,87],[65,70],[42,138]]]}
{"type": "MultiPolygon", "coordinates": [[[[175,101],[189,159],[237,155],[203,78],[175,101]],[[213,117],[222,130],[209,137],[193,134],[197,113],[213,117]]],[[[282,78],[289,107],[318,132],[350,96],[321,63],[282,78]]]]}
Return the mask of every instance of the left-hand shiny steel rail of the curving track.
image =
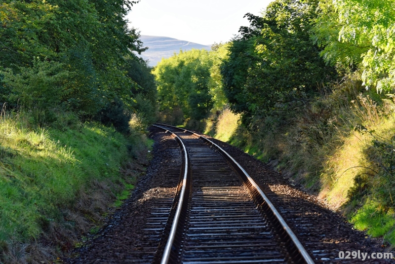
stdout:
{"type": "Polygon", "coordinates": [[[172,248],[175,236],[176,236],[178,222],[179,222],[180,216],[181,216],[182,205],[183,205],[184,196],[185,196],[185,189],[187,188],[188,167],[189,167],[189,165],[188,165],[188,151],[187,151],[187,148],[185,147],[184,143],[182,142],[182,140],[176,134],[174,134],[173,132],[171,132],[163,127],[160,127],[158,125],[154,124],[153,126],[165,130],[166,133],[167,132],[171,133],[172,136],[177,140],[177,142],[179,142],[179,144],[182,146],[182,151],[184,152],[184,157],[185,157],[184,176],[183,176],[183,181],[182,181],[180,197],[179,197],[179,201],[178,201],[178,205],[177,205],[177,210],[174,215],[174,220],[171,225],[171,229],[170,229],[169,237],[167,239],[166,246],[164,247],[162,260],[160,261],[160,264],[168,264],[169,259],[170,259],[171,248],[172,248]]]}

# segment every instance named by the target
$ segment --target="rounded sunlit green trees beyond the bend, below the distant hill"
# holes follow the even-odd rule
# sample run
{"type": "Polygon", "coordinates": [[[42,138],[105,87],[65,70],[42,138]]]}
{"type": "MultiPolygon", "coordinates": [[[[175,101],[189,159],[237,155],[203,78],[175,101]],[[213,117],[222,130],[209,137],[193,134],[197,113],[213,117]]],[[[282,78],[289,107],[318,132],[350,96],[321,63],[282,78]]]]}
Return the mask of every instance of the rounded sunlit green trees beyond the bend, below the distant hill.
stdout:
{"type": "Polygon", "coordinates": [[[180,51],[154,70],[160,111],[180,108],[185,116],[204,118],[213,106],[208,80],[212,60],[206,50],[180,51]]]}

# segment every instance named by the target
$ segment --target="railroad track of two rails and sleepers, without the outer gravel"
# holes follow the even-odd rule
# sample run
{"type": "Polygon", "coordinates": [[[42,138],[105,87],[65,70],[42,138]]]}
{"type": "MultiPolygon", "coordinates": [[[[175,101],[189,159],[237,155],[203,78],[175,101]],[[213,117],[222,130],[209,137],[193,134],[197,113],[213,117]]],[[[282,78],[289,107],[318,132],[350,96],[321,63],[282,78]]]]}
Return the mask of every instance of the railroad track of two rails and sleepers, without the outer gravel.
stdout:
{"type": "Polygon", "coordinates": [[[314,263],[267,196],[228,153],[191,131],[154,126],[178,142],[183,165],[153,263],[314,263]]]}

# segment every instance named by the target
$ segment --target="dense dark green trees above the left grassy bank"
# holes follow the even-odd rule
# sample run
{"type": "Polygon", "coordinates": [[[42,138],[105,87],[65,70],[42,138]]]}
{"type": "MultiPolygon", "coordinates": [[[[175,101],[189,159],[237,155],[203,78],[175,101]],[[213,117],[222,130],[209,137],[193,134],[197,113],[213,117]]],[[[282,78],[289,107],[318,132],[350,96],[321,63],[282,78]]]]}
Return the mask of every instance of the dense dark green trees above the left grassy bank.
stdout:
{"type": "Polygon", "coordinates": [[[18,102],[27,109],[61,106],[84,118],[94,116],[116,98],[132,111],[133,93],[150,93],[155,104],[151,69],[133,53],[145,48],[124,19],[134,3],[2,2],[1,101],[11,107],[18,102]]]}

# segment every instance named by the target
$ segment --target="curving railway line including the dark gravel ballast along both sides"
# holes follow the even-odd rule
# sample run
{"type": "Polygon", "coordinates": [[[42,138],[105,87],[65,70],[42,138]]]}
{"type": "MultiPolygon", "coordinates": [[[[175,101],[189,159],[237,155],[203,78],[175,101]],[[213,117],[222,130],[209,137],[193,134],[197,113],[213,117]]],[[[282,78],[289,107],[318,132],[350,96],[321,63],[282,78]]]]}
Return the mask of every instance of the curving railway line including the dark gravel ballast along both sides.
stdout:
{"type": "Polygon", "coordinates": [[[329,264],[356,263],[340,259],[341,251],[383,251],[381,241],[353,230],[314,195],[243,151],[162,124],[151,133],[155,154],[131,197],[65,262],[314,263],[313,258],[329,264]]]}

